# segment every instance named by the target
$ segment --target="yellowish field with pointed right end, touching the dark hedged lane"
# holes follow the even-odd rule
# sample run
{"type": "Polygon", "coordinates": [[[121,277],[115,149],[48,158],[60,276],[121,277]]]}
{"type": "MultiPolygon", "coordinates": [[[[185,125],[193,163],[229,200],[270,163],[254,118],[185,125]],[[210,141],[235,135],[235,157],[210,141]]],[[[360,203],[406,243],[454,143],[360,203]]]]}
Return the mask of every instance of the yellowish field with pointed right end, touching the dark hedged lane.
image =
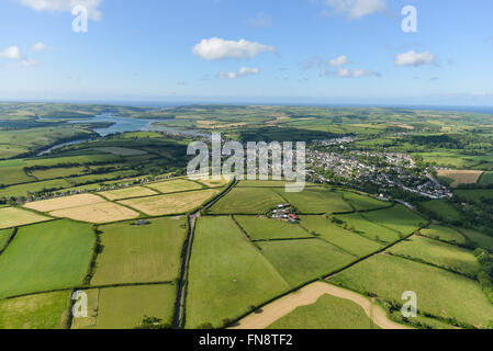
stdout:
{"type": "Polygon", "coordinates": [[[157,195],[119,201],[149,216],[181,214],[191,211],[221,192],[220,189],[190,191],[177,194],[157,195]]]}

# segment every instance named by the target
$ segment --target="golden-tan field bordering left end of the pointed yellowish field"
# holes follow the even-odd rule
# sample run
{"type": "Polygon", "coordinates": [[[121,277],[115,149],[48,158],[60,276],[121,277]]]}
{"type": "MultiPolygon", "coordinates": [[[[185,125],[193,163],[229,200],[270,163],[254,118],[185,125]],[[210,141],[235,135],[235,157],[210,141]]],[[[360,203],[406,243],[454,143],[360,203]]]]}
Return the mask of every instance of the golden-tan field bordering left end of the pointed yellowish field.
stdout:
{"type": "Polygon", "coordinates": [[[57,210],[49,214],[54,217],[71,218],[88,223],[110,223],[138,217],[137,212],[111,202],[57,210]]]}

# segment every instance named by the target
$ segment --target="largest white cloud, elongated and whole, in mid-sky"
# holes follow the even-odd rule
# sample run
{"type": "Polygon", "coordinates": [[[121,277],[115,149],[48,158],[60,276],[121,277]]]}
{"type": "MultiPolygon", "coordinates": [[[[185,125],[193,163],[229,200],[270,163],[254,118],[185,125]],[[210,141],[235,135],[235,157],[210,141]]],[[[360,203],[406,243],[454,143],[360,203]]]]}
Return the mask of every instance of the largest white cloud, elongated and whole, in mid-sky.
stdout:
{"type": "Polygon", "coordinates": [[[225,41],[220,37],[202,39],[193,46],[192,53],[206,60],[220,60],[224,58],[250,58],[262,52],[276,52],[273,46],[264,45],[245,39],[225,41]]]}

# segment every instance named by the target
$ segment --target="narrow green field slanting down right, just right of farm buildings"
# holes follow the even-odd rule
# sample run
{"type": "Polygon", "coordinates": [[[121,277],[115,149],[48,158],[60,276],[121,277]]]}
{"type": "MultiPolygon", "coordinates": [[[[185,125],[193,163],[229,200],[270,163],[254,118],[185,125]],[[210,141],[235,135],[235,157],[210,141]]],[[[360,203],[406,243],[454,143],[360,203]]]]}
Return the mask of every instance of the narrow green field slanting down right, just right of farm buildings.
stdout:
{"type": "Polygon", "coordinates": [[[377,241],[343,229],[325,216],[302,216],[301,225],[309,231],[320,235],[322,239],[357,257],[367,256],[383,247],[377,241]]]}

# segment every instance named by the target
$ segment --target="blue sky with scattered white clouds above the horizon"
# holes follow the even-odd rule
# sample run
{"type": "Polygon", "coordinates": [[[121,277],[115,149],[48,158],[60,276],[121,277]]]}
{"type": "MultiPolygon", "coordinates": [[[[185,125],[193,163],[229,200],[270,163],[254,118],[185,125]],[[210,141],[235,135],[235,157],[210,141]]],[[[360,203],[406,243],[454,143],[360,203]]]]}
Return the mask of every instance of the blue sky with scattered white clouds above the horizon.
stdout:
{"type": "Polygon", "coordinates": [[[491,0],[1,0],[0,100],[493,105],[492,16],[491,0]]]}

